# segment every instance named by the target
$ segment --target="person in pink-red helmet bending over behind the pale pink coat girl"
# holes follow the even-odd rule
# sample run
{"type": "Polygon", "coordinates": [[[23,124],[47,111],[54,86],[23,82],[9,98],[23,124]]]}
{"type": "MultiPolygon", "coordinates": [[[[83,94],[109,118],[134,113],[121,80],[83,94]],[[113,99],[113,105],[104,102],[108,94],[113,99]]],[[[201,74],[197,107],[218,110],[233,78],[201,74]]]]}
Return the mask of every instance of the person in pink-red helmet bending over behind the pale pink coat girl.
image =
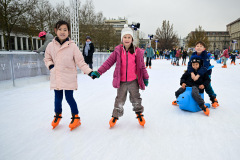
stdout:
{"type": "Polygon", "coordinates": [[[47,45],[52,42],[53,40],[53,35],[51,33],[46,33],[45,31],[42,31],[38,34],[38,37],[44,41],[43,42],[43,45],[36,51],[37,53],[40,53],[40,52],[45,52],[46,48],[47,48],[47,45]]]}

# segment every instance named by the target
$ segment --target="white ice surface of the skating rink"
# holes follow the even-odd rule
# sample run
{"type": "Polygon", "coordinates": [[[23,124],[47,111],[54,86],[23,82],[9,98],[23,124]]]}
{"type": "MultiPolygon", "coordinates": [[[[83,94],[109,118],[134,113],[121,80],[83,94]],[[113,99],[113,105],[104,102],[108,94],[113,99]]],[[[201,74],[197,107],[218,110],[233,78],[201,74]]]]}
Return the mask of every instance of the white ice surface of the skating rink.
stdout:
{"type": "MultiPolygon", "coordinates": [[[[70,108],[64,99],[63,119],[52,130],[54,94],[49,81],[0,89],[1,160],[238,160],[240,157],[240,60],[228,68],[215,65],[212,86],[220,107],[203,112],[180,110],[171,103],[186,66],[154,60],[149,86],[141,91],[145,127],[138,124],[127,99],[125,113],[109,129],[117,90],[114,67],[92,80],[79,74],[74,92],[82,125],[70,131],[70,108]]],[[[1,82],[3,83],[3,82],[1,82]]],[[[205,94],[205,101],[210,103],[205,94]]]]}

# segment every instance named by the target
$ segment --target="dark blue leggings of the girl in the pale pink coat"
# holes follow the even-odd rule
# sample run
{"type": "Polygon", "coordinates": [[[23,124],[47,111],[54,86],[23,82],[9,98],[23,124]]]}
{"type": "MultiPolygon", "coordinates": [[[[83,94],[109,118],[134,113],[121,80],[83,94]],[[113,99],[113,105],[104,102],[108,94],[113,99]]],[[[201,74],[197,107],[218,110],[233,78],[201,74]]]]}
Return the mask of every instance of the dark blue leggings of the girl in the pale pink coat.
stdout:
{"type": "MultiPolygon", "coordinates": [[[[62,113],[63,90],[54,90],[55,92],[55,113],[62,113]]],[[[72,114],[78,114],[77,103],[73,98],[73,90],[65,90],[65,98],[71,108],[72,114]]]]}

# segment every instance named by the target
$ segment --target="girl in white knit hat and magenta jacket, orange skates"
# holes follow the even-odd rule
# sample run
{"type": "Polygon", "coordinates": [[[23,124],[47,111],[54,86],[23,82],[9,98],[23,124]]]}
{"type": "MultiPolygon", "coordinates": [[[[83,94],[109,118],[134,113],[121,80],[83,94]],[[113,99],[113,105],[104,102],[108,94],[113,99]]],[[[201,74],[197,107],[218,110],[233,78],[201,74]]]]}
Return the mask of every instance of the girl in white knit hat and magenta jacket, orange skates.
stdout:
{"type": "Polygon", "coordinates": [[[122,45],[118,45],[103,65],[94,71],[94,78],[109,70],[115,63],[116,68],[113,74],[113,87],[117,89],[112,118],[109,121],[110,128],[113,127],[118,118],[123,115],[123,105],[125,104],[127,93],[130,93],[130,101],[133,105],[139,124],[144,126],[142,99],[139,88],[144,90],[148,85],[148,73],[145,68],[143,51],[133,46],[133,31],[124,25],[121,32],[122,45]]]}

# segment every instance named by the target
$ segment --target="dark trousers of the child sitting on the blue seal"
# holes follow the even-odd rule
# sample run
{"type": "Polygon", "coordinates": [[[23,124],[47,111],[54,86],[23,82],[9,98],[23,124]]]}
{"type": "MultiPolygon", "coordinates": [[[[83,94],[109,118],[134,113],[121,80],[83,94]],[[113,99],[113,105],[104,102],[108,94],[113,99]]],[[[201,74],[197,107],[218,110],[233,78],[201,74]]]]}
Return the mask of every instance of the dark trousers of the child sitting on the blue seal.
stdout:
{"type": "MultiPolygon", "coordinates": [[[[175,92],[175,95],[176,95],[176,98],[178,98],[178,96],[180,94],[182,94],[184,91],[186,90],[183,89],[182,87],[179,88],[176,92],[175,92]]],[[[197,104],[199,105],[199,107],[201,109],[204,109],[204,100],[202,99],[202,97],[199,95],[199,89],[196,87],[196,86],[193,86],[192,87],[192,97],[193,99],[197,102],[197,104]]]]}

